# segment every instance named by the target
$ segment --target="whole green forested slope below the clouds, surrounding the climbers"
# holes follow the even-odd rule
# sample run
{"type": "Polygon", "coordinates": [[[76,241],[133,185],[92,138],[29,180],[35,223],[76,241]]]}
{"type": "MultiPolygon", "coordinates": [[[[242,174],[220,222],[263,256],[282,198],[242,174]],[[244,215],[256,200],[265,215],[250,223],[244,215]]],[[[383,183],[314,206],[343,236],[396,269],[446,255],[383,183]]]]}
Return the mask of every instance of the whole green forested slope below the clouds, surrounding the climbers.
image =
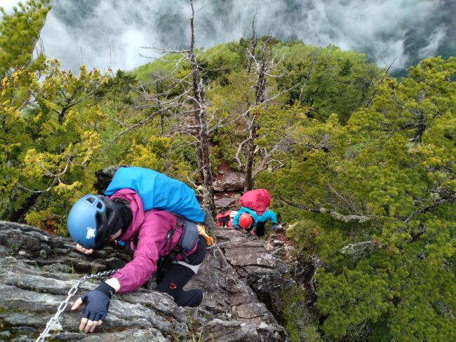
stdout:
{"type": "Polygon", "coordinates": [[[296,341],[288,306],[306,301],[322,340],[456,339],[455,57],[398,81],[353,51],[253,34],[74,75],[32,56],[47,11],[29,1],[0,22],[1,219],[65,235],[94,172],[121,163],[210,205],[223,162],[271,191],[313,270],[277,302],[296,341]]]}

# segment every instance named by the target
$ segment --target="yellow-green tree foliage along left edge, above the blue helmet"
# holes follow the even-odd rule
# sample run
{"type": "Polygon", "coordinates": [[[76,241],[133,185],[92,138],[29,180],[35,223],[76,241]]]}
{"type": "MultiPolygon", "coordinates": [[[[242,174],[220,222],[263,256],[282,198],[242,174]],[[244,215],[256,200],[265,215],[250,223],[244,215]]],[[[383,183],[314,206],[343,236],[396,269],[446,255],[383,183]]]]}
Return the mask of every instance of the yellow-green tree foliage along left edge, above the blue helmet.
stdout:
{"type": "Polygon", "coordinates": [[[69,207],[93,184],[104,116],[90,98],[106,78],[83,66],[74,76],[43,55],[32,60],[48,9],[48,1],[28,1],[0,23],[0,214],[65,233],[69,207]]]}

